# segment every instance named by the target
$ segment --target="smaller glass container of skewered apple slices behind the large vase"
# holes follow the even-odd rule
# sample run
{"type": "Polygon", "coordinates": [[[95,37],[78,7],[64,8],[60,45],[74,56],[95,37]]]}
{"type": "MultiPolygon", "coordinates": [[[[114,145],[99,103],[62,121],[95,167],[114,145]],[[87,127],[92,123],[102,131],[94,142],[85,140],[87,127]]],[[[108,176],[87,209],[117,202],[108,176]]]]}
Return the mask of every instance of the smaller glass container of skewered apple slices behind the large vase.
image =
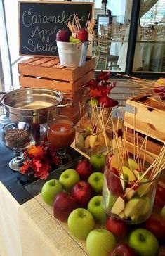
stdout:
{"type": "Polygon", "coordinates": [[[98,110],[96,105],[91,105],[91,115],[88,117],[84,107],[81,110],[80,105],[81,119],[76,129],[76,146],[87,155],[103,153],[106,151],[104,136],[106,137],[107,148],[110,148],[112,144],[112,124],[110,125],[112,110],[107,115],[103,106],[99,107],[98,110]],[[103,117],[104,135],[100,116],[103,117]]]}

